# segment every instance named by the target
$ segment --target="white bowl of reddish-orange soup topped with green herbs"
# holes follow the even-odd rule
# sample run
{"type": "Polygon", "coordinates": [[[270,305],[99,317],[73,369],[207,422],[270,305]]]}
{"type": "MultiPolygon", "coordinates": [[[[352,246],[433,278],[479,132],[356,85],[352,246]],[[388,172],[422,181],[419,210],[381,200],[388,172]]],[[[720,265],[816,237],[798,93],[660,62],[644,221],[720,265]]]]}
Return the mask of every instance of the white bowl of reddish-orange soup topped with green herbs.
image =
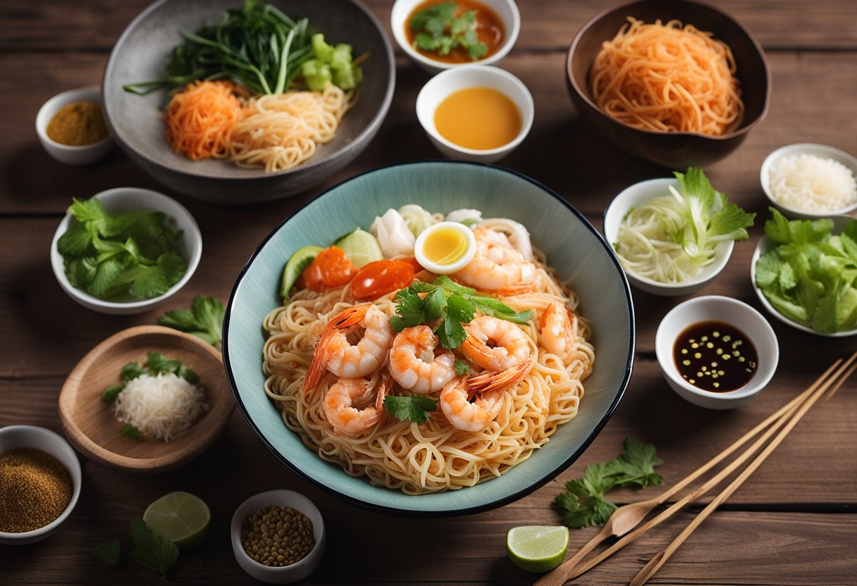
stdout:
{"type": "MultiPolygon", "coordinates": [[[[423,52],[432,54],[461,48],[470,55],[469,63],[490,65],[506,57],[518,40],[521,15],[513,0],[479,0],[478,3],[468,2],[462,6],[454,1],[434,3],[431,6],[426,4],[424,0],[396,0],[390,12],[390,27],[393,29],[393,39],[396,39],[402,51],[428,73],[440,73],[444,69],[452,69],[468,62],[447,63],[446,60],[427,57],[423,52]],[[488,47],[482,46],[484,44],[476,39],[476,21],[479,17],[470,14],[476,12],[471,8],[474,4],[477,9],[478,5],[482,4],[493,11],[502,23],[503,39],[496,51],[488,51],[488,47]],[[414,29],[411,33],[415,33],[413,44],[408,39],[411,27],[414,29]],[[425,40],[421,42],[421,39],[425,40]]],[[[440,53],[438,54],[440,56],[440,53]]]]}

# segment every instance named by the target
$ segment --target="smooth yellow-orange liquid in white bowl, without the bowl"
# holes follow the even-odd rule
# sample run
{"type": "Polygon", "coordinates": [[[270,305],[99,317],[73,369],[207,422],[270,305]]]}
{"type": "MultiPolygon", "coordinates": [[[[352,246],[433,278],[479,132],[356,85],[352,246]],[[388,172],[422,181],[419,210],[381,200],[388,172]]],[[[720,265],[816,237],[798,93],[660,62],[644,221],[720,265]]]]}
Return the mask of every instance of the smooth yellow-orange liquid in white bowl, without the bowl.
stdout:
{"type": "Polygon", "coordinates": [[[468,87],[440,102],[434,126],[459,147],[485,151],[515,140],[521,131],[521,113],[504,93],[491,87],[468,87]]]}

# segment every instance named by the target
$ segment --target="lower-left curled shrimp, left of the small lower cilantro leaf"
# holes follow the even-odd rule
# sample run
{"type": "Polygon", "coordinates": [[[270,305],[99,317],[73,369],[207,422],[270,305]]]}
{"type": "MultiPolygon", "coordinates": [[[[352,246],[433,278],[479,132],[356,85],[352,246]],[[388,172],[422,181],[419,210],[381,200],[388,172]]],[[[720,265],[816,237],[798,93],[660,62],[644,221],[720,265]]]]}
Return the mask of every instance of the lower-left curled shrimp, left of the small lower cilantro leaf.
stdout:
{"type": "Polygon", "coordinates": [[[339,379],[327,389],[324,396],[324,414],[327,422],[346,434],[359,434],[381,421],[384,415],[384,398],[390,388],[390,378],[381,378],[375,404],[365,409],[353,405],[371,392],[372,381],[365,379],[339,379]]]}

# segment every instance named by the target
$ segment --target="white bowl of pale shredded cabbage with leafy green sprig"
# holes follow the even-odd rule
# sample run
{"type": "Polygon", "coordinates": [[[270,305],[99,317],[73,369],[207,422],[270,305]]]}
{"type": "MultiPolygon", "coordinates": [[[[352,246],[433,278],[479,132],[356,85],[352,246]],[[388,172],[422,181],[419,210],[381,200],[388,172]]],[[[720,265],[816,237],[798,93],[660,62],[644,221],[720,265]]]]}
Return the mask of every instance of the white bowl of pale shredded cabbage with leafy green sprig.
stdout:
{"type": "Polygon", "coordinates": [[[686,296],[723,270],[755,215],[691,167],[620,191],[604,211],[603,231],[632,285],[653,295],[686,296]]]}

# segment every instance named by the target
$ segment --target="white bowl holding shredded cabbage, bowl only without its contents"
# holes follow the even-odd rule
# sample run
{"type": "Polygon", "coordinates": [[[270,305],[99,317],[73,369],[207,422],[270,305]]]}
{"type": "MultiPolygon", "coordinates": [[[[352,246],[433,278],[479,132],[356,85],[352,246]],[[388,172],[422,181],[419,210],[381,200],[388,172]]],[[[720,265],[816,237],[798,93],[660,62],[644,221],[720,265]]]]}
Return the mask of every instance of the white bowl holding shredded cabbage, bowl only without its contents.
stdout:
{"type": "MultiPolygon", "coordinates": [[[[644,202],[660,195],[669,194],[670,187],[679,188],[679,180],[667,177],[649,179],[626,187],[613,198],[604,210],[602,231],[607,242],[610,243],[614,250],[616,250],[616,242],[619,239],[620,226],[625,221],[627,215],[635,207],[643,205],[644,202]]],[[[674,282],[664,282],[656,280],[654,277],[640,274],[629,267],[626,260],[620,254],[617,254],[617,256],[619,256],[628,282],[639,290],[651,293],[652,295],[686,296],[702,290],[720,274],[723,267],[728,263],[733,248],[734,241],[732,240],[719,242],[716,245],[714,257],[710,261],[710,264],[703,266],[695,275],[687,276],[674,282]]]]}

